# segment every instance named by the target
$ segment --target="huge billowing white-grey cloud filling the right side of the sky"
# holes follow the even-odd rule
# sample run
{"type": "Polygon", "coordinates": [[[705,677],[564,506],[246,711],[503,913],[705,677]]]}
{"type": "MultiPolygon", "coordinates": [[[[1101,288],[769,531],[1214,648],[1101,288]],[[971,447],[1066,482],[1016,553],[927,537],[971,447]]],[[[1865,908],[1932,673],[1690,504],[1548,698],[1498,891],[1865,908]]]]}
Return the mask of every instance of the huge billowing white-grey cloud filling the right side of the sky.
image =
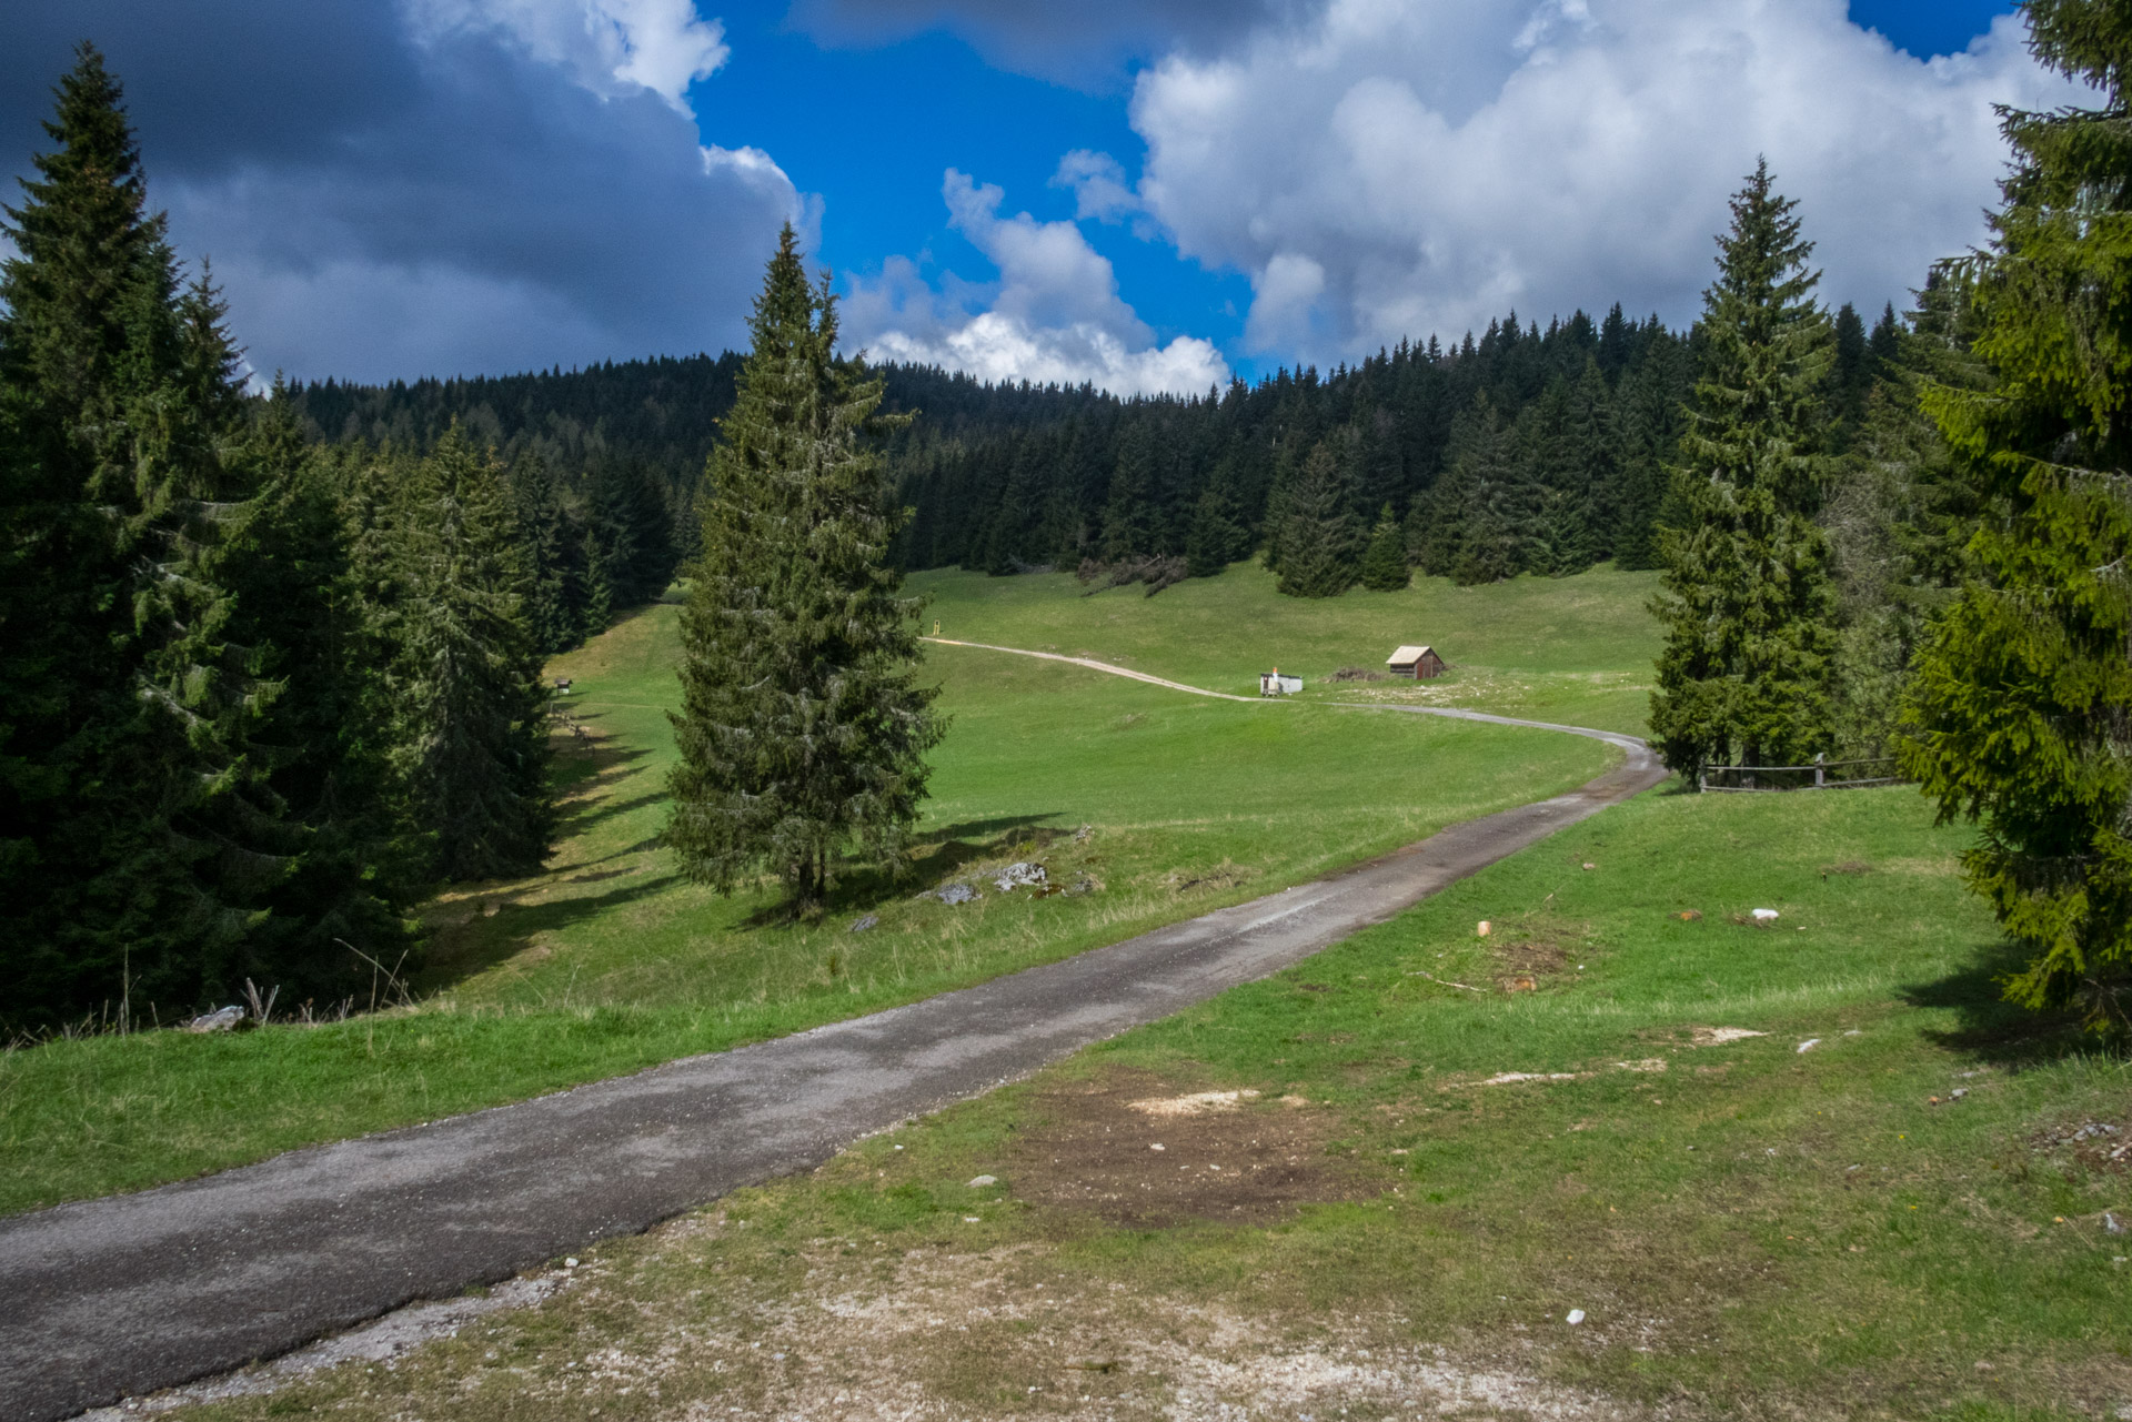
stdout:
{"type": "MultiPolygon", "coordinates": [[[[1330,360],[1516,307],[1689,320],[1757,156],[1802,200],[1823,294],[1878,307],[1985,237],[1993,102],[2072,92],[2002,17],[1917,60],[1844,0],[1330,0],[1145,70],[1132,207],[1249,275],[1245,345],[1330,360]]],[[[1083,213],[1128,211],[1075,153],[1083,213]]]]}

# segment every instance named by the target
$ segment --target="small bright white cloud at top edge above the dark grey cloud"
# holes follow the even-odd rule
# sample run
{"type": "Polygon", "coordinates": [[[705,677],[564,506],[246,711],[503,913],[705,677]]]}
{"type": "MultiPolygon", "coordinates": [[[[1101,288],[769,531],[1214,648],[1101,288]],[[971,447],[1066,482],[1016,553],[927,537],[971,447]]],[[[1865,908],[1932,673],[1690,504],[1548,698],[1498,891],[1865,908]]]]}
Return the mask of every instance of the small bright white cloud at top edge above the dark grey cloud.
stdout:
{"type": "Polygon", "coordinates": [[[650,90],[689,113],[689,85],[714,75],[731,49],[725,26],[695,0],[405,0],[422,38],[473,30],[514,38],[603,98],[650,90]]]}

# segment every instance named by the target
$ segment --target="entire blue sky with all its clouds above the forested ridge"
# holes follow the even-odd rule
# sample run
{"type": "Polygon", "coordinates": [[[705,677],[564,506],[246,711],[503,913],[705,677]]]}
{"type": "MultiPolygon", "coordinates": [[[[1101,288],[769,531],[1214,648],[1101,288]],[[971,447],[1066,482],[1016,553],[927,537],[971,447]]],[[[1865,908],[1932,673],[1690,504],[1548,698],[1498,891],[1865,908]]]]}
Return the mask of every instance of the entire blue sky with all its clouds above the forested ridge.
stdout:
{"type": "Polygon", "coordinates": [[[793,217],[876,354],[1190,390],[1512,305],[1686,322],[1757,153],[1825,296],[1900,303],[1983,239],[1991,102],[2064,98],[2010,9],[70,0],[0,13],[0,151],[96,38],[260,369],[716,350],[793,217]]]}

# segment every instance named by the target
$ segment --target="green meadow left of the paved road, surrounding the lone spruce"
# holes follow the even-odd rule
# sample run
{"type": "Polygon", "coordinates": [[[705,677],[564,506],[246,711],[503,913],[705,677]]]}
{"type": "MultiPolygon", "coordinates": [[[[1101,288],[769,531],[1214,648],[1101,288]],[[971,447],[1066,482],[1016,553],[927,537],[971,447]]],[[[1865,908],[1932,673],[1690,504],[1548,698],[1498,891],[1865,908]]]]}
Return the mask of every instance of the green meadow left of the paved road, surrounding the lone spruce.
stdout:
{"type": "MultiPolygon", "coordinates": [[[[1132,629],[1121,655],[1132,659],[1200,644],[1209,616],[1266,620],[1262,578],[1230,578],[1130,603],[1117,593],[1081,599],[1070,580],[927,582],[955,584],[957,618],[1000,599],[987,627],[1002,637],[1021,635],[1047,608],[1121,616],[1132,629]],[[1162,633],[1173,614],[1190,625],[1175,637],[1162,633]]],[[[1601,603],[1637,601],[1627,582],[1601,576],[1593,586],[1601,603]]],[[[1497,591],[1520,655],[1554,665],[1588,652],[1584,633],[1573,652],[1546,652],[1546,635],[1563,633],[1544,633],[1533,612],[1537,593],[1590,601],[1582,588],[1497,591]]],[[[1358,597],[1311,605],[1307,618],[1332,627],[1341,608],[1371,610],[1358,597]]],[[[1635,616],[1616,608],[1614,623],[1631,627],[1635,616]]],[[[1642,655],[1627,633],[1622,642],[1618,663],[1642,655]]],[[[565,838],[546,874],[431,906],[420,1008],[311,1030],[143,1034],[0,1055],[0,1211],[179,1179],[908,1002],[1296,883],[1554,793],[1603,763],[1599,746],[1539,731],[1205,701],[934,648],[955,727],[936,755],[919,885],[1038,857],[1055,876],[1085,872],[1104,889],[947,908],[912,900],[917,885],[855,880],[825,923],[793,927],[765,921],[768,895],[718,900],[680,883],[655,844],[674,650],[674,610],[652,608],[556,661],[556,674],[576,678],[574,714],[593,731],[588,746],[563,742],[565,838]],[[1083,823],[1094,825],[1087,842],[1062,838],[1083,823]],[[861,912],[876,912],[881,927],[853,936],[861,912]]],[[[1200,676],[1211,663],[1164,665],[1200,676]]]]}

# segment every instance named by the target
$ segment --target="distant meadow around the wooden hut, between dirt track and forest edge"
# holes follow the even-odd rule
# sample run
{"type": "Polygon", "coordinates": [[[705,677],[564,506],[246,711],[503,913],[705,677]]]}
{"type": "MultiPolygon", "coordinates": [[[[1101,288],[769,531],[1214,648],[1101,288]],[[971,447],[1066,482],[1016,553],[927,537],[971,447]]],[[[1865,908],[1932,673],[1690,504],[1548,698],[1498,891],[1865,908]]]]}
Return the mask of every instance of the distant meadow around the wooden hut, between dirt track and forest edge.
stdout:
{"type": "Polygon", "coordinates": [[[1644,610],[1657,573],[1612,565],[1578,578],[1516,578],[1456,588],[1416,578],[1405,593],[1356,588],[1311,601],[1281,597],[1258,567],[1145,588],[1085,588],[1066,573],[985,578],[936,571],[910,580],[934,599],[940,635],[1102,657],[1211,691],[1256,693],[1258,674],[1305,678],[1305,699],[1399,699],[1473,706],[1509,716],[1642,731],[1659,627],[1644,610]],[[1403,642],[1433,644],[1452,672],[1416,686],[1328,686],[1341,667],[1384,669],[1403,642]]]}

